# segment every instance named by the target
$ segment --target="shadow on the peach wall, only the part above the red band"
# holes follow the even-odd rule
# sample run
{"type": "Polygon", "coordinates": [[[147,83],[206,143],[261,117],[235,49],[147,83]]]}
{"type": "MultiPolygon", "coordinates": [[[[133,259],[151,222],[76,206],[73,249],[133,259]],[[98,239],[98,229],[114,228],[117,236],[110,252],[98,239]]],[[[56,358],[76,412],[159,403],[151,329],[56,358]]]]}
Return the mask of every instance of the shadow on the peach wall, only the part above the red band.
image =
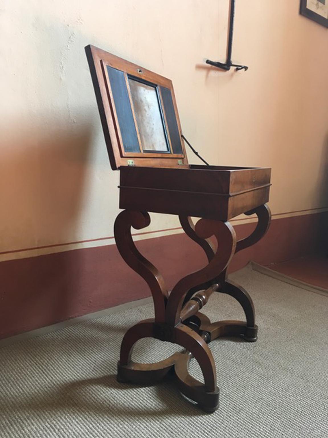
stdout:
{"type": "Polygon", "coordinates": [[[0,252],[72,239],[84,191],[91,127],[13,127],[2,133],[0,252]]]}

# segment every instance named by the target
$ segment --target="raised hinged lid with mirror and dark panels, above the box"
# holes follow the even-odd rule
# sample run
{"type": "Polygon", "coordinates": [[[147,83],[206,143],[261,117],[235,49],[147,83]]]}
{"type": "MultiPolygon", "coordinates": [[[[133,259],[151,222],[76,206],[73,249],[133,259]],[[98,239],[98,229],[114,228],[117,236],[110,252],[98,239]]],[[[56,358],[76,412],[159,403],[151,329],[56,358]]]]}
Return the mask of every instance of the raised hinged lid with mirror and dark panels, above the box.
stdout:
{"type": "Polygon", "coordinates": [[[112,169],[187,165],[172,81],[85,48],[112,169]]]}

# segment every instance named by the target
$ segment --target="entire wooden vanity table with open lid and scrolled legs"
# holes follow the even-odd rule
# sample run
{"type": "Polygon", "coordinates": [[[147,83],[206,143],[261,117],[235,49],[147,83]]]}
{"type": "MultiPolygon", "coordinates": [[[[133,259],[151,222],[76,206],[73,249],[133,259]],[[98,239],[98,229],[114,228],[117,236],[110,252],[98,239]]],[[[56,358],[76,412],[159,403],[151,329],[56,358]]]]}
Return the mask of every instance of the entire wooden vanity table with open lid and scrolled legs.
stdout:
{"type": "Polygon", "coordinates": [[[227,266],[237,251],[255,244],[268,230],[270,211],[265,203],[271,170],[188,164],[172,82],[94,46],[87,46],[86,53],[111,166],[120,171],[123,211],[115,221],[116,245],[127,265],[147,282],[154,300],[154,318],[134,325],[122,340],[117,378],[151,384],[171,373],[185,396],[213,412],[219,389],[208,344],[219,336],[257,339],[251,297],[227,279],[227,266]],[[171,293],[131,236],[132,228],[150,224],[148,212],[178,215],[185,233],[208,259],[204,268],[178,281],[171,293]],[[242,213],[256,214],[258,223],[249,237],[237,241],[228,221],[242,213]],[[191,216],[201,218],[195,226],[191,216]],[[215,292],[234,297],[246,321],[209,321],[200,309],[215,292]],[[135,363],[133,346],[145,337],[185,350],[159,363],[135,363]],[[192,357],[204,383],[188,374],[192,357]]]}

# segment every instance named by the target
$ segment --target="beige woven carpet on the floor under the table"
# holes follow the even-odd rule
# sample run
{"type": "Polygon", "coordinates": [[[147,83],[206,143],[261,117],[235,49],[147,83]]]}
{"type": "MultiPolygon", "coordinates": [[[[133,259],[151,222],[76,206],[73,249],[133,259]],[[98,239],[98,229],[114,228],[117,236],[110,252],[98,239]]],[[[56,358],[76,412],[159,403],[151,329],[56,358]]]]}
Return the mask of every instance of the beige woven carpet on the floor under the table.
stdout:
{"type": "MultiPolygon", "coordinates": [[[[215,413],[202,413],[172,384],[115,380],[120,340],[152,316],[146,305],[1,348],[0,437],[327,438],[327,297],[251,269],[233,278],[254,299],[259,339],[210,344],[220,386],[215,413]]],[[[219,294],[205,313],[244,319],[238,304],[219,294]]],[[[143,340],[134,359],[161,360],[177,349],[143,340]]],[[[195,360],[192,374],[201,378],[195,360]]]]}

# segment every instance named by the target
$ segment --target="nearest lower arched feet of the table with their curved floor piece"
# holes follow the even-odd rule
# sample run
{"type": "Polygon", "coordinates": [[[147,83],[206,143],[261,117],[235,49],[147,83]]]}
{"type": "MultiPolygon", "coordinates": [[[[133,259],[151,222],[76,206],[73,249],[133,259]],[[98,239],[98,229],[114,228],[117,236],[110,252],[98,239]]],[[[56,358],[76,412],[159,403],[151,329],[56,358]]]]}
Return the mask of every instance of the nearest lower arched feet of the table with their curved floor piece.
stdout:
{"type": "Polygon", "coordinates": [[[185,325],[178,325],[173,330],[166,330],[166,325],[158,326],[154,319],[141,321],[131,327],[125,334],[121,345],[117,380],[137,384],[154,384],[161,381],[173,368],[178,379],[180,391],[188,398],[199,403],[206,412],[213,412],[219,403],[219,389],[216,386],[216,368],[213,355],[205,341],[206,335],[199,336],[185,325]],[[138,364],[131,360],[133,346],[145,337],[170,340],[185,348],[185,353],[174,353],[161,362],[138,364]],[[192,357],[201,367],[204,383],[188,374],[188,365],[192,357]]]}

